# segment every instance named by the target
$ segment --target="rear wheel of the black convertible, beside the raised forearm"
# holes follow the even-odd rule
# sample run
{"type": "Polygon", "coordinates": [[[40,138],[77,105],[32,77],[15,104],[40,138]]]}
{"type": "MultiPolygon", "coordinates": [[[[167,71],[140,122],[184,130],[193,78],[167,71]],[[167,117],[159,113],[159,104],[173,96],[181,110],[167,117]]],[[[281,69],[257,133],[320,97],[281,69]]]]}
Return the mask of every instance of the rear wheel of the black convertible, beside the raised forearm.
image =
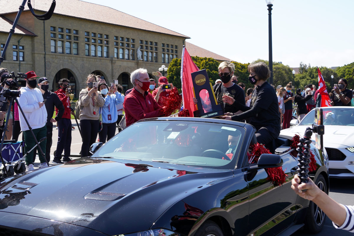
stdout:
{"type": "MultiPolygon", "coordinates": [[[[326,194],[328,194],[328,189],[326,185],[326,180],[323,175],[319,175],[316,179],[315,184],[326,194]]],[[[326,215],[322,210],[312,201],[310,201],[308,211],[305,217],[305,229],[311,234],[316,234],[320,232],[325,225],[326,215]]]]}

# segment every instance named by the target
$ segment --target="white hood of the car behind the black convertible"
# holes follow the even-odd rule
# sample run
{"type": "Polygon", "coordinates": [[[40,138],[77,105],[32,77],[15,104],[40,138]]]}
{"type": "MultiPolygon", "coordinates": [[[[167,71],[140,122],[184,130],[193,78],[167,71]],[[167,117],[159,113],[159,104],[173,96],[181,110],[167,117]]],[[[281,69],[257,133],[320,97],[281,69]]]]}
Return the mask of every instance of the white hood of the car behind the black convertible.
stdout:
{"type": "MultiPolygon", "coordinates": [[[[280,134],[287,136],[294,136],[298,134],[303,136],[305,130],[309,125],[298,125],[292,128],[283,129],[280,134]]],[[[343,126],[343,125],[325,125],[325,134],[323,136],[323,142],[332,144],[341,144],[346,146],[354,146],[354,126],[343,126]]],[[[312,134],[311,139],[315,140],[315,133],[312,134]]],[[[325,145],[326,146],[326,145],[325,145]]]]}

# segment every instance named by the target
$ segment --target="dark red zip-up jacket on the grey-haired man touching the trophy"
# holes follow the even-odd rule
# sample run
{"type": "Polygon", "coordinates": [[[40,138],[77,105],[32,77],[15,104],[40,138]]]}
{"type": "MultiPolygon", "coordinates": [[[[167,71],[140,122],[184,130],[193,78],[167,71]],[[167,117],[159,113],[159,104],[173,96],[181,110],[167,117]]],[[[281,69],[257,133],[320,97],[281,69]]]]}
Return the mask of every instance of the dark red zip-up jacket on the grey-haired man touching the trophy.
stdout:
{"type": "Polygon", "coordinates": [[[151,93],[145,92],[143,96],[143,94],[135,88],[125,97],[123,107],[126,126],[141,119],[164,115],[164,111],[162,111],[160,105],[156,103],[151,93]]]}

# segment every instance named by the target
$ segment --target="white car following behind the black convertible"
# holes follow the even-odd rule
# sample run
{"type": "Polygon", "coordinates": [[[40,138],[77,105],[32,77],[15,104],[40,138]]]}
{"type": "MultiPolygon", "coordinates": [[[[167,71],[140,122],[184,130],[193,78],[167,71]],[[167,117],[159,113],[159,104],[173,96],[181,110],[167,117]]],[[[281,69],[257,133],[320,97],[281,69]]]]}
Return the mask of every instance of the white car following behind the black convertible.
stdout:
{"type": "MultiPolygon", "coordinates": [[[[329,174],[333,178],[354,177],[354,107],[322,107],[325,134],[323,145],[329,157],[329,174]]],[[[281,135],[303,137],[306,127],[314,123],[315,109],[299,123],[290,122],[291,128],[280,131],[281,135]]],[[[315,134],[311,139],[315,139],[315,134]]]]}

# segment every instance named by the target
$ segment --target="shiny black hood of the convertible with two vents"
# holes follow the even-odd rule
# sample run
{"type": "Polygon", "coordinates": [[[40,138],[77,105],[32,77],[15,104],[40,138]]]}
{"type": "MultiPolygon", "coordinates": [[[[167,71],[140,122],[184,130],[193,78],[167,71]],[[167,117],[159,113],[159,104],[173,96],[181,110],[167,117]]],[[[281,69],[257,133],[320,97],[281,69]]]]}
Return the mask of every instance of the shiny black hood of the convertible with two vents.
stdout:
{"type": "Polygon", "coordinates": [[[0,184],[0,211],[126,234],[149,229],[173,203],[232,178],[231,170],[148,163],[81,158],[15,175],[0,184]]]}

